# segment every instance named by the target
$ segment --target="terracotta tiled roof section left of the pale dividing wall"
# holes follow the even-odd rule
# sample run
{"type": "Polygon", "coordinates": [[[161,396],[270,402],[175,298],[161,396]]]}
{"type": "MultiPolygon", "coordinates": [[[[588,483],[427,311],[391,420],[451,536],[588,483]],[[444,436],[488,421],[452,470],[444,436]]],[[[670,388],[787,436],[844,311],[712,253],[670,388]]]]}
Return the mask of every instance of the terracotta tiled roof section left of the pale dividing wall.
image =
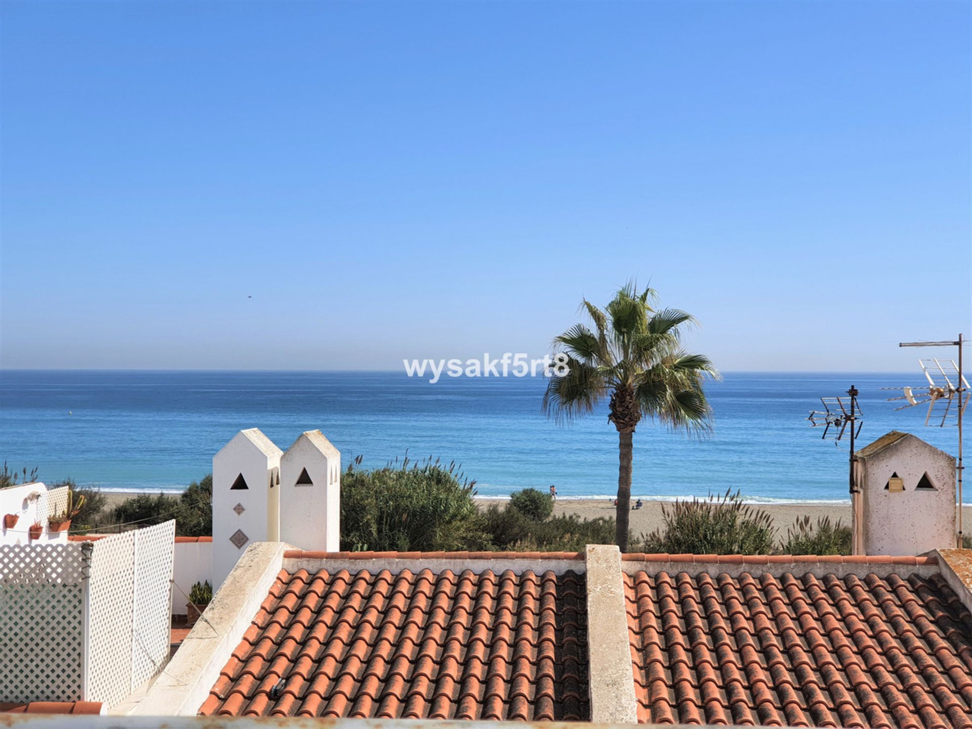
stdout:
{"type": "Polygon", "coordinates": [[[587,719],[585,606],[574,572],[281,571],[200,713],[587,719]]]}

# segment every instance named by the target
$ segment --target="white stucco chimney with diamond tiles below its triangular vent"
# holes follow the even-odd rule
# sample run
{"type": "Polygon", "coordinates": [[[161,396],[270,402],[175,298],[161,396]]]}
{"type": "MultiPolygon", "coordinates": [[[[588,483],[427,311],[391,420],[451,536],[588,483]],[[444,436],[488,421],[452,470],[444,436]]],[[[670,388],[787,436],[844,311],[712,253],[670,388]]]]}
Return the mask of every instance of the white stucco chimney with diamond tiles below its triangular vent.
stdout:
{"type": "Polygon", "coordinates": [[[257,428],[240,431],[213,457],[213,589],[246,547],[280,539],[282,451],[257,428]]]}

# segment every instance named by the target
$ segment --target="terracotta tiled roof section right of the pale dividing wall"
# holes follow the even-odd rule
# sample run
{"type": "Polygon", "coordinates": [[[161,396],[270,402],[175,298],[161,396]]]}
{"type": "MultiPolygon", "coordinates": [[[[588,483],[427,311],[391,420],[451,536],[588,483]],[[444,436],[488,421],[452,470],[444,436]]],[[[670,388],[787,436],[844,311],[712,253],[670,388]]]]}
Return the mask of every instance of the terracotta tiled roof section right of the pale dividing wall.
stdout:
{"type": "Polygon", "coordinates": [[[642,722],[972,727],[972,615],[941,574],[624,582],[642,722]]]}

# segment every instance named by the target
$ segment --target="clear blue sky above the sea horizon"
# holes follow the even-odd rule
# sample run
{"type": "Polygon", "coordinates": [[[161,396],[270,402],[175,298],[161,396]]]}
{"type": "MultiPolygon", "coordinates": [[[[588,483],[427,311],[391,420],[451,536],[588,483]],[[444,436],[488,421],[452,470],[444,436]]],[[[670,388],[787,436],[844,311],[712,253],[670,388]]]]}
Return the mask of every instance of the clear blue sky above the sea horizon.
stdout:
{"type": "Polygon", "coordinates": [[[970,9],[6,0],[0,364],[540,356],[638,277],[724,370],[912,369],[970,9]]]}

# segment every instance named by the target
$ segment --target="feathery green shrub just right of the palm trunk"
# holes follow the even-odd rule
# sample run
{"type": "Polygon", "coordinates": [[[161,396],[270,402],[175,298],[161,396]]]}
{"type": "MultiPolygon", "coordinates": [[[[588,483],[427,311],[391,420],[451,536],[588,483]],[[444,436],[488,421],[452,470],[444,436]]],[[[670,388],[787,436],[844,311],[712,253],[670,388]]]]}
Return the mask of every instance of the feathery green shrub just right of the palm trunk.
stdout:
{"type": "Polygon", "coordinates": [[[737,491],[705,500],[662,505],[664,528],[642,536],[648,552],[670,554],[769,554],[772,517],[743,502],[737,491]]]}

